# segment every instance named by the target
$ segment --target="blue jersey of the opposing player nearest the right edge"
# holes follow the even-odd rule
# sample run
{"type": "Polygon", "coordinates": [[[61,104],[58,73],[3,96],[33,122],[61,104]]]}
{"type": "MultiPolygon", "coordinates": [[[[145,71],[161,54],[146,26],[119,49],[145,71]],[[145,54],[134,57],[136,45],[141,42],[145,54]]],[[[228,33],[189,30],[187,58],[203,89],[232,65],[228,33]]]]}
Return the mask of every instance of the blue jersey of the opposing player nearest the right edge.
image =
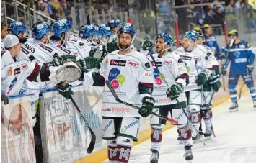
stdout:
{"type": "MultiPolygon", "coordinates": [[[[225,52],[227,53],[229,50],[229,44],[226,45],[225,52]]],[[[229,56],[226,58],[224,63],[224,67],[226,68],[229,65],[229,61],[231,61],[230,65],[230,73],[231,74],[239,74],[246,75],[247,68],[246,65],[253,63],[255,60],[255,54],[252,52],[252,47],[248,42],[241,40],[237,45],[233,44],[229,51],[229,56]]]]}

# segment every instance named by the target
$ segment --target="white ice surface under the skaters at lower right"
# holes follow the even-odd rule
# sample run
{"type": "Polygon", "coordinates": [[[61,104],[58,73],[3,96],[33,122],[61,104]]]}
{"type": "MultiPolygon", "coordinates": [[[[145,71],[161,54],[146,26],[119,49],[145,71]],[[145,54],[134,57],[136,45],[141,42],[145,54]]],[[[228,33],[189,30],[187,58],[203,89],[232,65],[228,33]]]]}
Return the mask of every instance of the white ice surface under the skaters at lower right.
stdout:
{"type": "MultiPolygon", "coordinates": [[[[256,163],[256,110],[249,92],[238,103],[239,111],[234,113],[229,112],[230,100],[213,109],[216,138],[207,140],[206,146],[200,141],[193,145],[192,163],[256,163]]],[[[130,163],[149,163],[149,149],[150,140],[133,147],[130,163]]],[[[159,163],[187,163],[183,155],[177,128],[164,132],[159,163]]]]}

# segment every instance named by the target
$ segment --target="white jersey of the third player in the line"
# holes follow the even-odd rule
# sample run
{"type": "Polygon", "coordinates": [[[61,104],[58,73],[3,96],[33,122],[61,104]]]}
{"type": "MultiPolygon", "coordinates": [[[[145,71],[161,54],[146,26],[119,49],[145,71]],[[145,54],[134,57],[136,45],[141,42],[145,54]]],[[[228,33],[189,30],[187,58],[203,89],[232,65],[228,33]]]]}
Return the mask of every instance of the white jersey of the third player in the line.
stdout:
{"type": "Polygon", "coordinates": [[[211,58],[207,55],[206,47],[199,46],[194,48],[191,52],[187,52],[183,47],[177,48],[172,53],[176,55],[180,55],[180,57],[185,62],[185,68],[187,69],[187,73],[189,75],[190,83],[185,86],[184,91],[191,91],[195,89],[200,89],[195,83],[195,76],[198,76],[198,73],[205,71],[208,77],[211,75],[211,58]],[[197,64],[195,65],[197,61],[197,64]]]}

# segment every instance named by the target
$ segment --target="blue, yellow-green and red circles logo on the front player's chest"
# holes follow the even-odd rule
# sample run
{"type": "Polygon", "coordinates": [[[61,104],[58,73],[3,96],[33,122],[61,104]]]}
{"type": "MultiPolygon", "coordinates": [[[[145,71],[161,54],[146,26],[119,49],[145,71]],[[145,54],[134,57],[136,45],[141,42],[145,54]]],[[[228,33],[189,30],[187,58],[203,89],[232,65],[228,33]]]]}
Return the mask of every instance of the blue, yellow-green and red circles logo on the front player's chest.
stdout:
{"type": "Polygon", "coordinates": [[[111,82],[111,85],[114,89],[119,88],[125,82],[125,76],[121,75],[118,68],[112,68],[108,74],[108,80],[111,82]]]}

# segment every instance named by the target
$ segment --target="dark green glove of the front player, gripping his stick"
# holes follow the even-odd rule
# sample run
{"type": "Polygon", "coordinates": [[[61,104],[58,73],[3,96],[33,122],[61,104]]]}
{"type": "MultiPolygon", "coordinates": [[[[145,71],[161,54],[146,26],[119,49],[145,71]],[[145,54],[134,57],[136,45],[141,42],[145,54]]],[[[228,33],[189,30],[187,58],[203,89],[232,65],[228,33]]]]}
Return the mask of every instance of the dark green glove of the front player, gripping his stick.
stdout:
{"type": "Polygon", "coordinates": [[[138,111],[142,117],[148,117],[154,108],[154,98],[153,97],[144,97],[142,99],[141,109],[138,111]]]}

